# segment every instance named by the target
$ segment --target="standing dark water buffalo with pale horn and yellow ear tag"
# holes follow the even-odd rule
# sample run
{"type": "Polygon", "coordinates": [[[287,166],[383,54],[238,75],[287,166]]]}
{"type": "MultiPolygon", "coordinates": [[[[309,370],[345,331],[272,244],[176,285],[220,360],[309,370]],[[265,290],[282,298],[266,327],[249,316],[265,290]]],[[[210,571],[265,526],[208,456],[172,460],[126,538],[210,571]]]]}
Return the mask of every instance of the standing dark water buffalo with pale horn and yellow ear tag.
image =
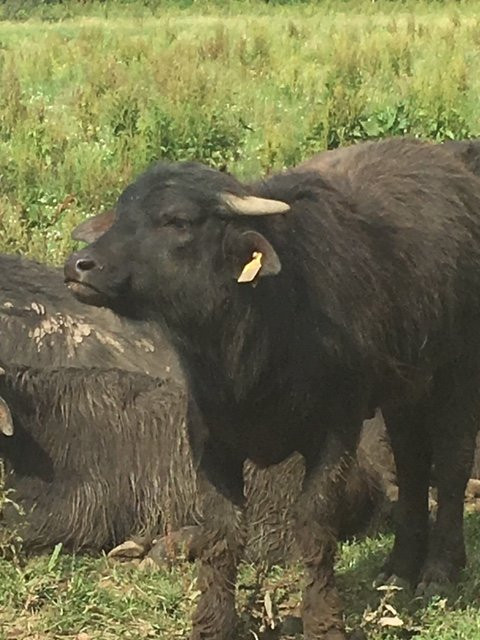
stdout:
{"type": "Polygon", "coordinates": [[[79,300],[158,319],[186,373],[190,440],[216,505],[199,547],[195,640],[234,633],[245,459],[267,467],[294,451],[306,465],[296,505],[304,634],[345,637],[334,504],[375,407],[399,484],[385,577],[423,593],[457,578],[480,420],[479,210],[479,179],[448,149],[409,139],[366,144],[336,171],[254,186],[159,164],[67,261],[79,300]]]}

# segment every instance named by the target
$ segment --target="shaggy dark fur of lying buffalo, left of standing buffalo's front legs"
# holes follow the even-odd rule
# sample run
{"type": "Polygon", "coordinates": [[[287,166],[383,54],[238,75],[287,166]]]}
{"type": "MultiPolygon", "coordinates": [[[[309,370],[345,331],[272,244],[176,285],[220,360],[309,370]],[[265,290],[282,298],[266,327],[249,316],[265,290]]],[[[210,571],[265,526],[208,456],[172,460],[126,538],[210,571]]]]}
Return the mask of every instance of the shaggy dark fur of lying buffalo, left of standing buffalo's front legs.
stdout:
{"type": "MultiPolygon", "coordinates": [[[[26,512],[18,524],[27,549],[98,550],[141,529],[192,523],[181,386],[117,369],[5,368],[0,395],[15,433],[0,436],[0,455],[26,512]]],[[[10,525],[15,514],[4,514],[10,525]]]]}

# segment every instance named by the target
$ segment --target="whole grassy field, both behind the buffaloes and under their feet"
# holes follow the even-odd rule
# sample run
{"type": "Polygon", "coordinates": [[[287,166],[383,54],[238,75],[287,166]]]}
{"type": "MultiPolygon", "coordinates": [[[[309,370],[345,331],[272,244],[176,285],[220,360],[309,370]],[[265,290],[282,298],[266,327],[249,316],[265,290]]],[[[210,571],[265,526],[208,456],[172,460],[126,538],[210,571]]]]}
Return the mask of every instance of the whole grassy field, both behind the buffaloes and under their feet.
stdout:
{"type": "MultiPolygon", "coordinates": [[[[251,176],[360,139],[480,135],[478,0],[28,6],[0,2],[2,251],[59,263],[71,227],[158,158],[251,176]]],[[[461,587],[428,606],[371,587],[390,538],[345,546],[349,624],[372,640],[480,638],[480,518],[467,529],[461,587]]],[[[265,594],[284,616],[300,574],[256,582],[246,567],[240,599],[252,640],[265,594]]],[[[4,559],[0,640],[181,638],[195,598],[188,565],[143,573],[61,549],[4,559]]]]}

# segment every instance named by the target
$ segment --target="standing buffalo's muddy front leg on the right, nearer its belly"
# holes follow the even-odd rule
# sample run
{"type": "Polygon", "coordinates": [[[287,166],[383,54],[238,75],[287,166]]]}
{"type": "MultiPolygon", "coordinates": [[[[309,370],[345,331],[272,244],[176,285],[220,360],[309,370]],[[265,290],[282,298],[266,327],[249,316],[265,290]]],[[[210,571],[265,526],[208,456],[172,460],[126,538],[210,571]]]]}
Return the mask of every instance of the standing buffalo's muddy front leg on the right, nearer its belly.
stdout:
{"type": "Polygon", "coordinates": [[[334,562],[346,478],[354,459],[350,453],[339,453],[329,460],[311,465],[306,459],[304,488],[295,507],[296,539],[306,574],[302,599],[305,640],[346,638],[334,562]]]}

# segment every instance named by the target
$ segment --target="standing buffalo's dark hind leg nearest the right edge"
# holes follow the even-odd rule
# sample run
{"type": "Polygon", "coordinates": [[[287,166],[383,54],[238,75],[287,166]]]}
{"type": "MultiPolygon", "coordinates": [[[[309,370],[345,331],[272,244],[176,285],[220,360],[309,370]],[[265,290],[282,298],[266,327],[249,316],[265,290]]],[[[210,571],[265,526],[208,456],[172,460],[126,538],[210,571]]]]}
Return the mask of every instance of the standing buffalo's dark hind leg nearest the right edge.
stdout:
{"type": "Polygon", "coordinates": [[[464,498],[480,424],[478,376],[462,372],[458,378],[442,382],[436,390],[431,422],[437,517],[417,590],[427,597],[456,582],[465,567],[464,498]]]}

